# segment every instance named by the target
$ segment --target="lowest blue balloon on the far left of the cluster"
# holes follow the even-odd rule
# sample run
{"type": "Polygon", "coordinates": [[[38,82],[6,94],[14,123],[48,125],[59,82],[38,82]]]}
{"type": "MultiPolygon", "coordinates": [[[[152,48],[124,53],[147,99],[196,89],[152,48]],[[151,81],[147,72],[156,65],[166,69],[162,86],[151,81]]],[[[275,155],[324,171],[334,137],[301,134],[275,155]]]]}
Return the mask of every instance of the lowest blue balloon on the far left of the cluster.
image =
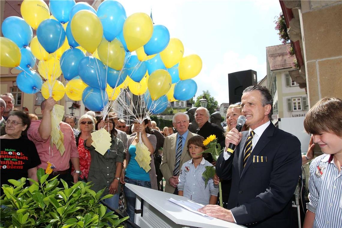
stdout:
{"type": "Polygon", "coordinates": [[[18,74],[16,79],[19,90],[24,93],[37,93],[41,90],[43,81],[36,71],[28,70],[18,74]]]}

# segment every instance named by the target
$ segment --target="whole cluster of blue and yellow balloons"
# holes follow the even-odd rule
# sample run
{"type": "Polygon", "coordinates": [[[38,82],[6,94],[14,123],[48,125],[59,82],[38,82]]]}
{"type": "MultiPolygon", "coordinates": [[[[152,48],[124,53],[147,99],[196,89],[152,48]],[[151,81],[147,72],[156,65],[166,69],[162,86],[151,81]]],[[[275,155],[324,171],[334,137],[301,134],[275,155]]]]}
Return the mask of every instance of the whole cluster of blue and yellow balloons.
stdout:
{"type": "Polygon", "coordinates": [[[127,17],[115,0],[103,1],[97,11],[74,0],[50,0],[49,7],[43,0],[24,0],[21,14],[2,24],[0,64],[22,70],[17,85],[25,93],[41,91],[55,100],[66,93],[101,111],[128,87],[145,95],[150,113],[196,94],[192,78],[202,68],[201,58],[183,57],[183,43],[145,13],[127,17]],[[65,86],[58,80],[62,73],[65,86]]]}

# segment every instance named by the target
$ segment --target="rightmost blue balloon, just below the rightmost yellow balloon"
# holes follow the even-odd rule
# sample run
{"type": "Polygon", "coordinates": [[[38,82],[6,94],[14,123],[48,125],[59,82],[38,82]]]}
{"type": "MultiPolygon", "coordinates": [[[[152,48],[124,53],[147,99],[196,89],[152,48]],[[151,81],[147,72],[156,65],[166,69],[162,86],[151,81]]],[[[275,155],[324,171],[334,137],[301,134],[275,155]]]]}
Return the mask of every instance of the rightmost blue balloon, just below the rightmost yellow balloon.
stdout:
{"type": "Polygon", "coordinates": [[[173,97],[177,100],[188,100],[195,96],[197,84],[192,79],[179,81],[174,86],[173,97]]]}

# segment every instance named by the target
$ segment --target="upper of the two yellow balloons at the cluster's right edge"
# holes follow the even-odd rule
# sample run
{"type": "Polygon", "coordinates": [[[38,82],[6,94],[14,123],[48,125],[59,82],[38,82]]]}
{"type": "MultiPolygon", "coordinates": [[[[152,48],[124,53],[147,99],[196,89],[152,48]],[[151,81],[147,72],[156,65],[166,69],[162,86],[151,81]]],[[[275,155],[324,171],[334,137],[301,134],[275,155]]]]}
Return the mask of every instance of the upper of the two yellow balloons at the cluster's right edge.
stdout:
{"type": "Polygon", "coordinates": [[[166,49],[160,52],[161,61],[166,68],[171,68],[181,61],[184,54],[182,41],[177,38],[171,38],[166,49]]]}

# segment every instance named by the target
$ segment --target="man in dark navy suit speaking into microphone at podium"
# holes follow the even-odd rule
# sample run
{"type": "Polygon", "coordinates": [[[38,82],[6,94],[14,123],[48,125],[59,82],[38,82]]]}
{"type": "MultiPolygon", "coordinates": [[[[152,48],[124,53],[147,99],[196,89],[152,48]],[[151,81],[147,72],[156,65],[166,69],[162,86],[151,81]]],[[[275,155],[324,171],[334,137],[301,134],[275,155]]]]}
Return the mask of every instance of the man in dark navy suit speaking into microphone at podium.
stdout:
{"type": "Polygon", "coordinates": [[[270,121],[273,99],[266,87],[252,85],[241,97],[242,115],[249,131],[235,128],[226,136],[226,149],[216,162],[216,173],[232,179],[227,209],[207,205],[199,211],[247,227],[291,227],[291,197],[301,173],[297,137],[270,121]],[[230,171],[232,170],[232,171],[230,171]]]}

